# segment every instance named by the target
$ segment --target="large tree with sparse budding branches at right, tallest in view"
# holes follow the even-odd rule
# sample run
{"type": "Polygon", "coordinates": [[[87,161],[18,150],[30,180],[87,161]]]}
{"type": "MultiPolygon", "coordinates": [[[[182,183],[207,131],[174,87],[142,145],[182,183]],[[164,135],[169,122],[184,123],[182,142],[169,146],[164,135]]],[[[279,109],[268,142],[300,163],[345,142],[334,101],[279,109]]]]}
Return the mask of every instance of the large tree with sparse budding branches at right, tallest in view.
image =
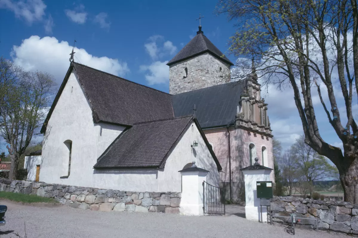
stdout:
{"type": "Polygon", "coordinates": [[[336,165],[345,201],[357,203],[358,126],[353,113],[358,95],[357,1],[220,0],[217,10],[237,26],[229,49],[240,57],[241,68],[233,77],[246,78],[253,59],[263,84],[289,84],[305,143],[336,165]],[[321,137],[315,94],[343,151],[321,137]],[[337,102],[340,95],[342,108],[337,102]]]}

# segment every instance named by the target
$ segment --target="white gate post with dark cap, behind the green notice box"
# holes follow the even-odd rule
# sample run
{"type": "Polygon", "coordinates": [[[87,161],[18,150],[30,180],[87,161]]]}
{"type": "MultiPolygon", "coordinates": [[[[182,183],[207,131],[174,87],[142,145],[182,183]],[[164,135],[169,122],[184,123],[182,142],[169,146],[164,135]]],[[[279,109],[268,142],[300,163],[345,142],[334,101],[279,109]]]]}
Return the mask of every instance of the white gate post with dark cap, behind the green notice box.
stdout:
{"type": "Polygon", "coordinates": [[[270,193],[269,192],[270,185],[271,185],[271,197],[272,197],[272,182],[269,181],[270,173],[272,169],[260,165],[258,163],[258,159],[256,158],[255,164],[250,165],[246,168],[242,168],[240,170],[244,174],[244,179],[245,179],[246,219],[267,222],[267,207],[264,208],[261,207],[260,197],[266,197],[267,194],[270,193]],[[258,183],[260,183],[260,185],[257,185],[258,183]],[[260,187],[261,183],[263,183],[262,187],[260,187]]]}

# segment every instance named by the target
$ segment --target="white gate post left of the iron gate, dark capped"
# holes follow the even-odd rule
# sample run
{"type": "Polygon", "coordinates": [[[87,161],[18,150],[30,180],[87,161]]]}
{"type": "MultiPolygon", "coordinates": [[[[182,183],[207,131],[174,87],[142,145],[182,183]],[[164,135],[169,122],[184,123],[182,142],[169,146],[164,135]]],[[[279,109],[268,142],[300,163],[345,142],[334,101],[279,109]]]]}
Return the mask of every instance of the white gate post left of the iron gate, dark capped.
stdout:
{"type": "Polygon", "coordinates": [[[195,161],[192,167],[179,171],[182,174],[182,198],[180,200],[180,214],[204,215],[203,182],[206,181],[208,170],[198,168],[195,161]]]}

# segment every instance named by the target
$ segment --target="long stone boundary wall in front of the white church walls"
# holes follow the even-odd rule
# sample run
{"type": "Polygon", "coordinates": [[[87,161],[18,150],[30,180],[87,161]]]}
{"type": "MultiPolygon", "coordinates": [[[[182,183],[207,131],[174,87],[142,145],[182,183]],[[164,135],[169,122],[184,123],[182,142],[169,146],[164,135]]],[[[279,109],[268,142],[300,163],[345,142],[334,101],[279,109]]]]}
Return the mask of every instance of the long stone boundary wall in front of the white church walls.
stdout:
{"type": "Polygon", "coordinates": [[[179,213],[182,193],[129,192],[0,178],[0,191],[54,198],[64,205],[100,211],[179,213]]]}

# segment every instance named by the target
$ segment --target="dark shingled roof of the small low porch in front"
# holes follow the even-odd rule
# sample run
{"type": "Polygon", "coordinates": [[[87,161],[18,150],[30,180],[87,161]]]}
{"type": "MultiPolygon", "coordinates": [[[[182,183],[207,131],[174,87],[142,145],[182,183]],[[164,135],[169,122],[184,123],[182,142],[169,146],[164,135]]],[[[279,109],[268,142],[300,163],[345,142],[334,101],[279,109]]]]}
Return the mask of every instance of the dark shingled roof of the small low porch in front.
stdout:
{"type": "MultiPolygon", "coordinates": [[[[193,116],[187,116],[135,124],[112,142],[93,168],[163,168],[171,151],[193,121],[197,124],[193,116]]],[[[198,129],[221,170],[204,133],[199,126],[198,129]]]]}

